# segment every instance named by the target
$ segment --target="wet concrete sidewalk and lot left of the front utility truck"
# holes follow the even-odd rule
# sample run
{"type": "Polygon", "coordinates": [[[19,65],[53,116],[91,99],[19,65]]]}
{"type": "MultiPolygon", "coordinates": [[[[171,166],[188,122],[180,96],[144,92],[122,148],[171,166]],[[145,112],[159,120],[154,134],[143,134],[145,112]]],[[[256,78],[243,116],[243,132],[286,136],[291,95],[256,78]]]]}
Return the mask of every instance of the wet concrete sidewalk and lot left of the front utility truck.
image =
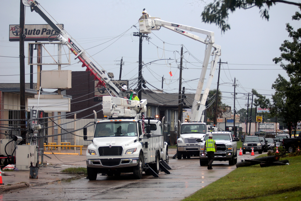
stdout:
{"type": "MultiPolygon", "coordinates": [[[[34,186],[83,176],[75,174],[66,174],[61,171],[70,167],[87,167],[85,161],[86,149],[87,146],[84,146],[82,149],[82,155],[71,155],[72,153],[74,153],[73,149],[61,149],[61,153],[64,154],[57,154],[57,150],[52,150],[53,154],[46,154],[47,156],[51,157],[51,159],[49,159],[46,156],[43,156],[44,164],[47,164],[47,166],[39,166],[37,179],[29,178],[29,170],[4,170],[4,173],[2,170],[2,183],[4,185],[0,185],[0,192],[5,190],[11,190],[11,188],[16,189],[20,187],[26,187],[26,183],[29,184],[29,186],[34,186]]],[[[44,152],[51,151],[46,150],[44,152]]],[[[76,153],[80,153],[79,149],[76,149],[76,153]]],[[[41,162],[41,156],[39,157],[39,161],[41,162]]]]}

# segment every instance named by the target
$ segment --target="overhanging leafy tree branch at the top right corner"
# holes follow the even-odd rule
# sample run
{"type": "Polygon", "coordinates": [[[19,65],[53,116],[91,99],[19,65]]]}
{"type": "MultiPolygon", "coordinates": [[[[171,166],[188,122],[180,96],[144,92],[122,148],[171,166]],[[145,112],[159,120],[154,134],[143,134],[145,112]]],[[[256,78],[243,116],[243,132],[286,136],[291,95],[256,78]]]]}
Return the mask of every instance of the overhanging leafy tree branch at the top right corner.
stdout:
{"type": "Polygon", "coordinates": [[[205,6],[202,12],[202,20],[205,23],[215,23],[225,32],[230,29],[230,24],[228,24],[229,11],[232,13],[235,9],[249,9],[253,7],[258,7],[260,10],[260,15],[266,20],[269,19],[268,10],[272,5],[276,3],[285,3],[301,6],[300,3],[283,1],[283,0],[214,0],[213,3],[205,6]]]}

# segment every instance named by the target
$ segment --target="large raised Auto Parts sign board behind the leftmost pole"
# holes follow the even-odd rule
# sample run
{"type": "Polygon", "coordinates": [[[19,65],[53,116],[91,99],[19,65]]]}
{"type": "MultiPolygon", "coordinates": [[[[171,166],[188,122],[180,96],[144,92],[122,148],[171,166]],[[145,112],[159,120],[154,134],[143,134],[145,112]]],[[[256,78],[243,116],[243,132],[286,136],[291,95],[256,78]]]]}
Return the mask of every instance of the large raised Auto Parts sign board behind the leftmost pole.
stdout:
{"type": "MultiPolygon", "coordinates": [[[[59,24],[59,27],[64,28],[64,24],[59,24]]],[[[21,31],[19,25],[9,25],[9,41],[19,41],[20,34],[25,34],[24,41],[48,41],[50,36],[51,39],[55,39],[57,32],[50,27],[49,24],[25,24],[24,32],[21,31]]]]}

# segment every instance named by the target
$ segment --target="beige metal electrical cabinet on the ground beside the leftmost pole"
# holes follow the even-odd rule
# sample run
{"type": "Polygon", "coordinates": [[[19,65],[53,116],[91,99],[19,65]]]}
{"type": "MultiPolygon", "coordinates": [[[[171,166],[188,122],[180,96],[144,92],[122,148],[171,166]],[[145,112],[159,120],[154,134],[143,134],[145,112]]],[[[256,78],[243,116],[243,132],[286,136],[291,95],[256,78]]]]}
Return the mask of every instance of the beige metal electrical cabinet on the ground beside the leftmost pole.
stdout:
{"type": "Polygon", "coordinates": [[[36,166],[37,162],[36,145],[17,145],[16,147],[16,168],[19,170],[29,170],[30,162],[36,166]]]}

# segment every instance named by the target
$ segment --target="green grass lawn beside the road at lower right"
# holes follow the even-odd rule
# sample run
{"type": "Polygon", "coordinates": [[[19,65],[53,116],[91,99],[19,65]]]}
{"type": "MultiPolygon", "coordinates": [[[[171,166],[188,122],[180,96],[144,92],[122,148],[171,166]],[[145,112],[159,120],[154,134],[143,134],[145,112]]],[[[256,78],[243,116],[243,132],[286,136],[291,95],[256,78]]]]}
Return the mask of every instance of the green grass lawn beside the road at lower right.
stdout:
{"type": "MultiPolygon", "coordinates": [[[[262,157],[264,155],[261,155],[262,157]]],[[[282,158],[290,165],[240,167],[198,190],[184,201],[194,200],[300,200],[301,155],[282,158]]]]}

